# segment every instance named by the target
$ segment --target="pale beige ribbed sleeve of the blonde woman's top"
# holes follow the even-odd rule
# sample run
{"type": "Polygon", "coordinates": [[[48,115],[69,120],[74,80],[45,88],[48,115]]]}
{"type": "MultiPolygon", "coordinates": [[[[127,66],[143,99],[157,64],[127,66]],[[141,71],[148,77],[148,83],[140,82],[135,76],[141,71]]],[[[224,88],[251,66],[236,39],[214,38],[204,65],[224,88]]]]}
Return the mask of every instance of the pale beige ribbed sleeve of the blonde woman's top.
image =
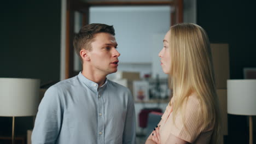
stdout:
{"type": "MultiPolygon", "coordinates": [[[[179,139],[193,143],[202,131],[201,106],[199,100],[190,97],[184,109],[184,119],[182,119],[181,111],[177,112],[174,118],[175,123],[171,121],[171,134],[179,137],[179,139]]],[[[173,115],[170,115],[173,119],[173,115]]]]}

